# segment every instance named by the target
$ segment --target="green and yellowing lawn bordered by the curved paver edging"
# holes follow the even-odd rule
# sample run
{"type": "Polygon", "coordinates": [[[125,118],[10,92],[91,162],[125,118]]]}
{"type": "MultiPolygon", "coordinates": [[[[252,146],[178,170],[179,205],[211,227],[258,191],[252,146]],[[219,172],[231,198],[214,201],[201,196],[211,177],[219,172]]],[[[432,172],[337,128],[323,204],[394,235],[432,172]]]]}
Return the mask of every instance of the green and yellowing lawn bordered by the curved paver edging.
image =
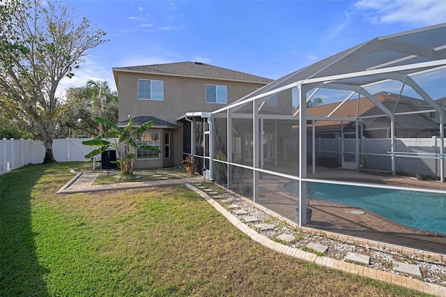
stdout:
{"type": "Polygon", "coordinates": [[[0,296],[424,296],[264,248],[184,186],[56,195],[81,165],[0,176],[0,296]]]}

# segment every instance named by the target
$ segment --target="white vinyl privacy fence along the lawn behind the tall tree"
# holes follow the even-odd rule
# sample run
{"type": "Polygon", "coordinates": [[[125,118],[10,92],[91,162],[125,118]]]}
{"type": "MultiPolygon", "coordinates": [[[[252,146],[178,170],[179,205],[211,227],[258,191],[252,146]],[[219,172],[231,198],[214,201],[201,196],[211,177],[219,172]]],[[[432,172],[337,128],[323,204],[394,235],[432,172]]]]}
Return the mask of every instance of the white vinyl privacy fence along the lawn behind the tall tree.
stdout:
{"type": "MultiPolygon", "coordinates": [[[[84,146],[91,138],[54,139],[53,153],[57,162],[89,161],[84,155],[94,146],[84,146]]],[[[110,140],[110,139],[109,139],[110,140]]],[[[40,164],[45,158],[43,142],[32,139],[0,139],[0,175],[30,164],[40,164]]]]}

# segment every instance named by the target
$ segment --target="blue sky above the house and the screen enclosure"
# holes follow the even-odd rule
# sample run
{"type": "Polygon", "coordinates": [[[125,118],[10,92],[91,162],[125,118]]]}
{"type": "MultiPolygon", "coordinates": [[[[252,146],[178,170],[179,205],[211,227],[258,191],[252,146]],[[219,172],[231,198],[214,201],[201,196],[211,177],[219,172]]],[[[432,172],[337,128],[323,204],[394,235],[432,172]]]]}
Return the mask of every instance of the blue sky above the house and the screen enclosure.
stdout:
{"type": "Polygon", "coordinates": [[[446,22],[446,1],[63,0],[109,42],[61,87],[106,79],[112,68],[201,61],[277,79],[378,36],[446,22]]]}

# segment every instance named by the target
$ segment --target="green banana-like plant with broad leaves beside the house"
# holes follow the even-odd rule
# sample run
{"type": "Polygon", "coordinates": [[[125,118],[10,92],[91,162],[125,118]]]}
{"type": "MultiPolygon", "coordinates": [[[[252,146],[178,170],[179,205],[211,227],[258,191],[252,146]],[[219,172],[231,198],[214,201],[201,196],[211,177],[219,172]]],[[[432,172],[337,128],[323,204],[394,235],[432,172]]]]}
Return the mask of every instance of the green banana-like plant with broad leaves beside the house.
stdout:
{"type": "Polygon", "coordinates": [[[98,155],[107,150],[107,148],[112,147],[116,150],[116,162],[120,165],[121,174],[133,174],[133,166],[134,166],[134,158],[136,157],[136,152],[138,148],[144,148],[149,151],[155,151],[157,153],[161,153],[158,148],[155,146],[150,146],[146,144],[140,144],[141,135],[148,128],[151,128],[153,125],[153,121],[148,121],[143,123],[138,128],[132,130],[133,128],[133,116],[128,116],[128,124],[125,127],[118,127],[115,123],[107,119],[102,119],[99,116],[95,117],[95,121],[98,123],[102,123],[104,125],[109,126],[109,131],[102,133],[98,137],[95,137],[91,140],[86,140],[82,142],[86,146],[98,146],[90,153],[85,155],[85,158],[92,158],[95,155],[98,155]],[[114,139],[112,142],[109,142],[106,139],[114,139]],[[117,140],[116,140],[117,139],[117,140]],[[124,144],[120,146],[120,144],[124,144]],[[124,151],[121,151],[121,148],[124,147],[124,151]]]}

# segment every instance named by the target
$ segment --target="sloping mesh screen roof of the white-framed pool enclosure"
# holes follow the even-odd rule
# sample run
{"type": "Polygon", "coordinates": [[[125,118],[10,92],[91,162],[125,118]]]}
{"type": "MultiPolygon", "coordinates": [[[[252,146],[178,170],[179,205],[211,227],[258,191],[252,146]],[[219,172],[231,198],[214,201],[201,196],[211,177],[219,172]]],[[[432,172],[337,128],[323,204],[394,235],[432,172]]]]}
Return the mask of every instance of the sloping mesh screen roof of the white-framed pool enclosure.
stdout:
{"type": "MultiPolygon", "coordinates": [[[[436,65],[397,70],[393,73],[411,75],[422,70],[438,68],[438,64],[445,66],[446,23],[374,38],[285,75],[244,98],[240,98],[240,100],[247,100],[293,83],[297,85],[297,82],[305,82],[307,79],[323,79],[346,73],[364,73],[371,70],[411,66],[415,63],[432,61],[436,61],[436,65]]],[[[370,75],[361,75],[360,77],[339,79],[337,83],[348,86],[363,86],[364,84],[381,82],[384,79],[383,75],[370,73],[370,75]]],[[[240,100],[233,102],[233,104],[240,102],[240,100]]]]}

